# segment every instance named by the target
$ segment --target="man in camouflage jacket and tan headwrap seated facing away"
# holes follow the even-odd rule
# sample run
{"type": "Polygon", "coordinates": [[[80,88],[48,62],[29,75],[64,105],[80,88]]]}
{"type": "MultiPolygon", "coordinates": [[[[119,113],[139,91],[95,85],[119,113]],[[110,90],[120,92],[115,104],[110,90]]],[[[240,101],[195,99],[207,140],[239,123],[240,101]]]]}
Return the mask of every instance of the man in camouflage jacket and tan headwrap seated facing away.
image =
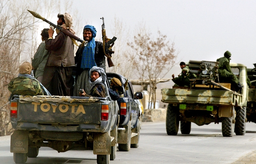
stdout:
{"type": "Polygon", "coordinates": [[[12,95],[50,95],[48,90],[30,75],[32,65],[29,62],[24,62],[20,65],[18,77],[13,78],[8,84],[8,90],[12,95]]]}

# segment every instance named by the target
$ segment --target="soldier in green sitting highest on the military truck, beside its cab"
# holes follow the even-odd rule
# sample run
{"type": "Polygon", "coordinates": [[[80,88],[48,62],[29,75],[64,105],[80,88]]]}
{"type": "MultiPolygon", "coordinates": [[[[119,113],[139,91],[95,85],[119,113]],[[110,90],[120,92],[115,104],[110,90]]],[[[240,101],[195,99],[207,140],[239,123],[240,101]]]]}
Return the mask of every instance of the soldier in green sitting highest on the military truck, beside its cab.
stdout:
{"type": "Polygon", "coordinates": [[[236,75],[233,74],[231,70],[231,66],[229,64],[230,62],[231,53],[229,51],[226,51],[224,53],[224,57],[221,57],[217,59],[217,62],[219,62],[219,69],[218,69],[218,76],[219,76],[219,82],[229,82],[234,87],[234,90],[238,92],[242,89],[242,86],[236,77],[236,75]]]}

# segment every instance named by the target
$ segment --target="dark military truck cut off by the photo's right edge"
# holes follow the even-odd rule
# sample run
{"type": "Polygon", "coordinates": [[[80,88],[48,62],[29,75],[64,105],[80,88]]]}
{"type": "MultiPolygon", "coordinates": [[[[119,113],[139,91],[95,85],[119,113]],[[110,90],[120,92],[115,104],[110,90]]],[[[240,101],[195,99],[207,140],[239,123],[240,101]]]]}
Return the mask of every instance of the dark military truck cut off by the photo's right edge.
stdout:
{"type": "MultiPolygon", "coordinates": [[[[256,66],[256,64],[254,64],[256,66]]],[[[256,123],[256,67],[247,69],[248,80],[251,86],[248,91],[248,102],[246,107],[246,119],[248,122],[256,123]]]]}

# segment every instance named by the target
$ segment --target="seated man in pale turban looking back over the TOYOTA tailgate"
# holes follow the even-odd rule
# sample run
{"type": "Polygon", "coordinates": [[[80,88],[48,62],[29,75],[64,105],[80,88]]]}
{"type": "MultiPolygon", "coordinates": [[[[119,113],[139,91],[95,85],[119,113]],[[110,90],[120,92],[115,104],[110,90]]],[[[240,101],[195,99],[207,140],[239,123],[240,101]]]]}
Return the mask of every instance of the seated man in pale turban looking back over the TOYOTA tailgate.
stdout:
{"type": "MultiPolygon", "coordinates": [[[[92,89],[89,94],[85,92],[79,93],[80,96],[86,97],[106,97],[106,73],[103,68],[98,66],[93,66],[89,71],[89,83],[92,85],[92,89]]],[[[84,90],[83,90],[84,91],[84,90]]],[[[113,100],[118,100],[119,95],[117,92],[109,88],[110,97],[113,100]],[[113,94],[114,93],[114,94],[113,94]]]]}

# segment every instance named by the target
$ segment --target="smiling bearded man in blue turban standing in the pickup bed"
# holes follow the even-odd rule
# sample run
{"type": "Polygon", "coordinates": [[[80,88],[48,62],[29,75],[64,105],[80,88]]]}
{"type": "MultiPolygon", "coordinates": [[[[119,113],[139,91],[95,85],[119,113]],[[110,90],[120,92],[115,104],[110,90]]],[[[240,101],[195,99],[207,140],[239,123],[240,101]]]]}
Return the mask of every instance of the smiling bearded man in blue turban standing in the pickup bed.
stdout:
{"type": "Polygon", "coordinates": [[[85,47],[79,47],[76,51],[76,84],[74,86],[73,96],[79,96],[79,88],[84,89],[86,93],[90,92],[89,70],[93,66],[102,67],[106,71],[106,60],[103,50],[103,43],[95,41],[96,29],[92,25],[84,26],[84,40],[88,41],[85,47]]]}

